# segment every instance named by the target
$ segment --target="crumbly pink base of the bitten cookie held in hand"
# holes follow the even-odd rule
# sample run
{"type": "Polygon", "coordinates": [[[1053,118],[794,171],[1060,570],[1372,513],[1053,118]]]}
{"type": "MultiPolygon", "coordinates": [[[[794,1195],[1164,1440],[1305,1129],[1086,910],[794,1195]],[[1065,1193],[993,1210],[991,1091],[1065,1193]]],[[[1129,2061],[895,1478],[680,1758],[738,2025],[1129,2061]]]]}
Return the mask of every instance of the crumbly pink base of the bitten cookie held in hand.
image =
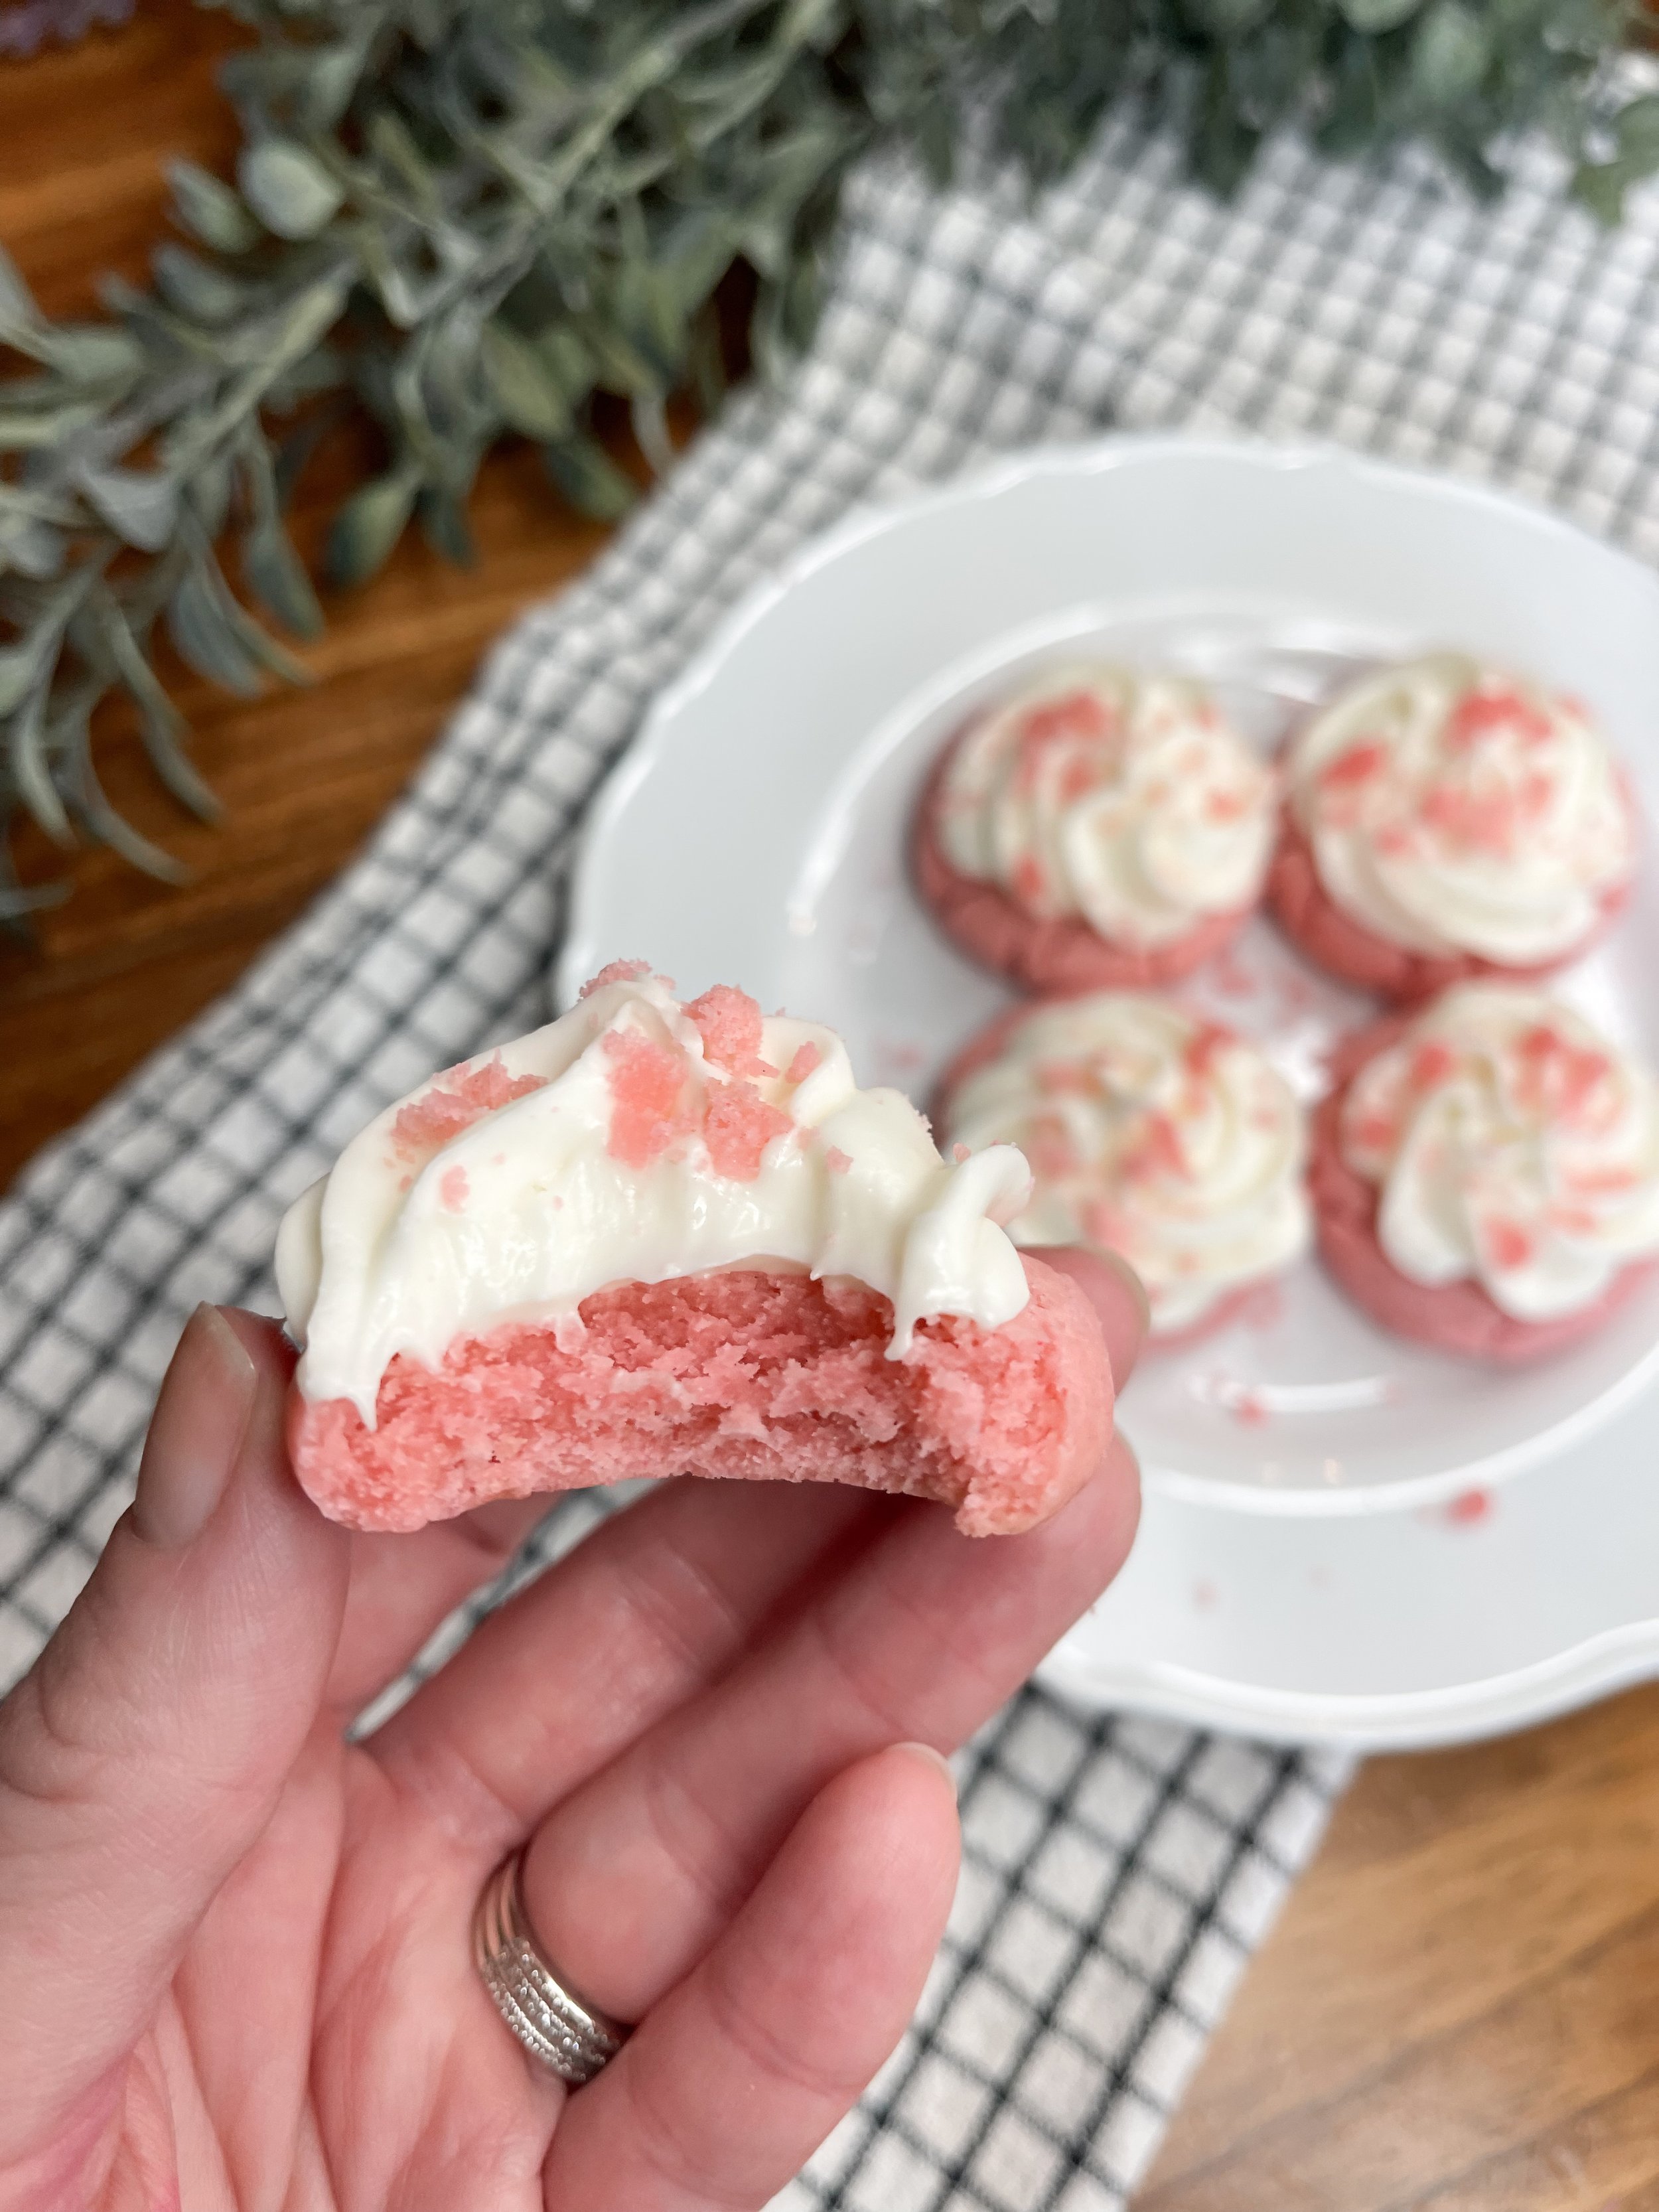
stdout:
{"type": "Polygon", "coordinates": [[[1026,1279],[1013,1321],[927,1321],[905,1360],[887,1358],[891,1307],[863,1283],[748,1270],[624,1283],[584,1301],[568,1352],[551,1327],[507,1323],[438,1369],[398,1354],[374,1429],[345,1398],[294,1394],[294,1469],[354,1528],[688,1473],[936,1498],[967,1535],[1013,1535],[1099,1467],[1113,1411],[1088,1296],[1037,1261],[1026,1279]]]}

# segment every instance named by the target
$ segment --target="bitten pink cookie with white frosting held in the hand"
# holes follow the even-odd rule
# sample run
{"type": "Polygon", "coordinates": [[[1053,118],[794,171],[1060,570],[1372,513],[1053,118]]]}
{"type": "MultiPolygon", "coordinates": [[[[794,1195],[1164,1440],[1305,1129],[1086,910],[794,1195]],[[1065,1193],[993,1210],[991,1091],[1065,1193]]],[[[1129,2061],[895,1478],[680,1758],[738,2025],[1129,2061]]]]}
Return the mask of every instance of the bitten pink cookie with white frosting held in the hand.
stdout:
{"type": "Polygon", "coordinates": [[[1086,1290],[1000,1228],[1026,1188],[1011,1146],[940,1159],[834,1031],[617,964],[290,1210],[296,1473],[358,1528],[664,1473],[1029,1528],[1099,1467],[1113,1383],[1086,1290]]]}

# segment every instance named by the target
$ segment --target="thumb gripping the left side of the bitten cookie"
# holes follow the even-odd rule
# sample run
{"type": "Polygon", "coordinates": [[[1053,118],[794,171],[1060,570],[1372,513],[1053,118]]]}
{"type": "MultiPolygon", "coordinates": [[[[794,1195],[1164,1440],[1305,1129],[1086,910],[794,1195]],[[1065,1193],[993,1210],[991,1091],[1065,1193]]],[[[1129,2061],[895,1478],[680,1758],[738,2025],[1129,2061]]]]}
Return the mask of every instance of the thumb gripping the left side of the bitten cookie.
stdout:
{"type": "Polygon", "coordinates": [[[316,1719],[347,1537],[290,1471],[290,1365],[272,1323],[197,1307],[133,1511],[0,1703],[0,2163],[100,2132],[316,1719]]]}

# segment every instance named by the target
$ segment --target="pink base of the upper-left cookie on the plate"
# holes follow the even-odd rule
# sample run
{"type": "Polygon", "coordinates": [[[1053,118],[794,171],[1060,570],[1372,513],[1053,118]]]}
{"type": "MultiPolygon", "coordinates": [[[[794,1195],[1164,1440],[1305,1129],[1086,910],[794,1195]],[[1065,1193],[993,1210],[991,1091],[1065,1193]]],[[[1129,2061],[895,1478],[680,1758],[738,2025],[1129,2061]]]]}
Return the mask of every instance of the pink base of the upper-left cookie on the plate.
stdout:
{"type": "MultiPolygon", "coordinates": [[[[960,743],[960,739],[956,741],[960,743]]],[[[1033,920],[995,883],[964,876],[938,841],[942,779],[951,743],[927,779],[916,810],[911,867],[933,920],[964,953],[1006,975],[1026,991],[1075,995],[1079,991],[1155,991],[1179,982],[1219,953],[1250,920],[1250,907],[1214,914],[1170,945],[1113,945],[1079,920],[1033,920]]]]}

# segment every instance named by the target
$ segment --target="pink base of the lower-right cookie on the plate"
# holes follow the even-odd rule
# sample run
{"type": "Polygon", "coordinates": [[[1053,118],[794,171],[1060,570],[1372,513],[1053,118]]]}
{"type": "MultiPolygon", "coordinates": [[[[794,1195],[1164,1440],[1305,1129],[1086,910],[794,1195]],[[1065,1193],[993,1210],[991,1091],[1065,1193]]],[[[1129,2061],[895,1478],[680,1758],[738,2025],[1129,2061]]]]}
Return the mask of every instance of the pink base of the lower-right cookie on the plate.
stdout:
{"type": "Polygon", "coordinates": [[[1334,1062],[1336,1088],[1314,1113],[1307,1188],[1318,1221],[1318,1252],[1347,1296],[1385,1329],[1464,1358],[1522,1367],[1564,1352],[1595,1334],[1641,1283],[1655,1261],[1624,1267],[1606,1292],[1577,1314],[1555,1321],[1517,1321],[1475,1281],[1425,1285],[1400,1274],[1376,1234],[1378,1190],[1343,1159],[1340,1121],[1347,1086],[1376,1053],[1387,1051],[1409,1015],[1396,1013],[1343,1040],[1334,1062]]]}

